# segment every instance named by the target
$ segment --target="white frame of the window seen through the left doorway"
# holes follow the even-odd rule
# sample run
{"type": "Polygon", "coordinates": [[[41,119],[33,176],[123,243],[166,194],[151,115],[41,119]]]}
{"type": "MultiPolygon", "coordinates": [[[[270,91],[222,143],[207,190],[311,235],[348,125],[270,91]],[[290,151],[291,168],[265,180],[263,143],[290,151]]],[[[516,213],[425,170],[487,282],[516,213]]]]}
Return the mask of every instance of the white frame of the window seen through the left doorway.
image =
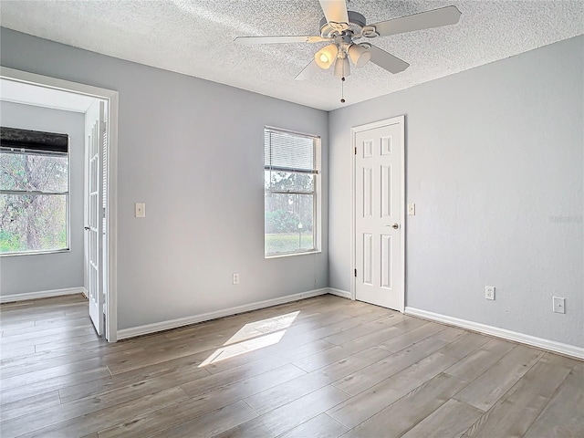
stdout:
{"type": "MultiPolygon", "coordinates": [[[[48,132],[49,134],[52,132],[48,132]]],[[[0,148],[0,153],[5,153],[2,149],[11,149],[8,153],[23,153],[25,155],[44,155],[44,156],[63,156],[67,157],[67,192],[44,192],[44,191],[30,191],[30,190],[2,190],[0,194],[20,195],[20,196],[38,196],[38,195],[53,195],[65,196],[65,227],[66,227],[66,247],[58,249],[39,249],[33,251],[18,251],[12,253],[0,253],[0,257],[11,257],[20,255],[47,255],[71,252],[71,138],[67,135],[67,152],[55,151],[38,151],[34,148],[19,148],[17,146],[3,146],[0,148]]]]}

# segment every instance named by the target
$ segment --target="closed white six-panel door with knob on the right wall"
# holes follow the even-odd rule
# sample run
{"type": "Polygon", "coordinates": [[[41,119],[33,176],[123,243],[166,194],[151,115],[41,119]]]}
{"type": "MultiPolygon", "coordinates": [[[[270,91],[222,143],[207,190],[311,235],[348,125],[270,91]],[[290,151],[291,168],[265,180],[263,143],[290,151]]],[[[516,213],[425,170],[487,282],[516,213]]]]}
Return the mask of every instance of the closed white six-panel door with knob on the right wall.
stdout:
{"type": "Polygon", "coordinates": [[[403,117],[353,129],[355,297],[403,311],[403,117]]]}

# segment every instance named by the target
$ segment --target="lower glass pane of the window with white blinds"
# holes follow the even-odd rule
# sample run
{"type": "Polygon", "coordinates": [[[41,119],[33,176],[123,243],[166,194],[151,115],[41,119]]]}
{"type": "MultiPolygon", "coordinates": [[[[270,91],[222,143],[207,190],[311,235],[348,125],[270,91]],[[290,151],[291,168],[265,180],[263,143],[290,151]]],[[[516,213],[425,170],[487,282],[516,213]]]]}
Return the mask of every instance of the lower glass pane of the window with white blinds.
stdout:
{"type": "Polygon", "coordinates": [[[266,254],[314,249],[314,195],[266,193],[266,254]]]}

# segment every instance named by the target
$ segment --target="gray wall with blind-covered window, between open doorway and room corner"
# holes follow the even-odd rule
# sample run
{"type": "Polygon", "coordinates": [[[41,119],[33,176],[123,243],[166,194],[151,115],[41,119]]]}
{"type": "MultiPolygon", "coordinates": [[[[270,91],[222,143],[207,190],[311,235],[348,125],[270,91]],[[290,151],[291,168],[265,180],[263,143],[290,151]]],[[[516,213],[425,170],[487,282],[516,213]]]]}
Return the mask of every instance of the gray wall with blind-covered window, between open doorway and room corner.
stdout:
{"type": "Polygon", "coordinates": [[[328,286],[327,112],[5,28],[0,45],[5,67],[120,92],[119,328],[328,286]],[[265,125],[322,136],[321,254],[264,259],[265,125]]]}

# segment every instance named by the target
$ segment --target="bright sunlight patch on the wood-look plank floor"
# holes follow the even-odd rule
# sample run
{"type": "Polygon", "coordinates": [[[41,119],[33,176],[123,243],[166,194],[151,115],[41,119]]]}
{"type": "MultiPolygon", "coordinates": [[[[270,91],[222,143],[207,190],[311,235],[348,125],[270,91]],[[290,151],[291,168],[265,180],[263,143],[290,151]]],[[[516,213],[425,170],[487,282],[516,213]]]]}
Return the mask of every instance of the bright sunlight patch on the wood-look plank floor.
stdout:
{"type": "Polygon", "coordinates": [[[203,360],[199,368],[277,344],[299,313],[300,311],[291,312],[245,324],[223,344],[222,348],[216,349],[213,354],[203,360]]]}

